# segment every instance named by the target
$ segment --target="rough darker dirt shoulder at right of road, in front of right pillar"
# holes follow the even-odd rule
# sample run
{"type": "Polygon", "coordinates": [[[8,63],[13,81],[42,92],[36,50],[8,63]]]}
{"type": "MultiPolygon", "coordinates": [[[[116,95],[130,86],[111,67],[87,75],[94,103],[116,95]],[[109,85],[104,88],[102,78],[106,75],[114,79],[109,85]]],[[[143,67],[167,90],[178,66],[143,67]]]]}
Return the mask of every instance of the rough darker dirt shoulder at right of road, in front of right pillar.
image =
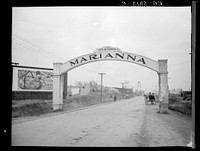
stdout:
{"type": "Polygon", "coordinates": [[[156,110],[154,106],[145,107],[139,134],[134,139],[136,146],[186,146],[190,141],[190,122],[172,111],[158,114],[156,110]]]}

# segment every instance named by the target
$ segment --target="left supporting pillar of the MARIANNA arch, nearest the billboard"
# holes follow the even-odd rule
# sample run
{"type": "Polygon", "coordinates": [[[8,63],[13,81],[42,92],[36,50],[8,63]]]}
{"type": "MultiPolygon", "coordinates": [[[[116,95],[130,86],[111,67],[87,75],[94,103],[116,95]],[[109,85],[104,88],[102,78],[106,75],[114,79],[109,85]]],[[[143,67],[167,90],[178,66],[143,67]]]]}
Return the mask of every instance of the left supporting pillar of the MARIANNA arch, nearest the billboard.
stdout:
{"type": "Polygon", "coordinates": [[[53,110],[63,107],[63,83],[64,75],[60,75],[62,63],[53,63],[53,110]]]}

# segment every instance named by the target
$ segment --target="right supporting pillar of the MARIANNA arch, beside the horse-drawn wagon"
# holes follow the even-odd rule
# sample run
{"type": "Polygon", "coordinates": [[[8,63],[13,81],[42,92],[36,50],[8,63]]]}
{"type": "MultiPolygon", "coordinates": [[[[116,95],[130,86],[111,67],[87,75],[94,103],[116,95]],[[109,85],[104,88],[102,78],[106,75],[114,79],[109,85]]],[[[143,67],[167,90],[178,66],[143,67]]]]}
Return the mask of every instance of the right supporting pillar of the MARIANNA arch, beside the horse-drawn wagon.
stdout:
{"type": "Polygon", "coordinates": [[[158,60],[159,63],[159,113],[168,113],[168,70],[167,60],[158,60]]]}

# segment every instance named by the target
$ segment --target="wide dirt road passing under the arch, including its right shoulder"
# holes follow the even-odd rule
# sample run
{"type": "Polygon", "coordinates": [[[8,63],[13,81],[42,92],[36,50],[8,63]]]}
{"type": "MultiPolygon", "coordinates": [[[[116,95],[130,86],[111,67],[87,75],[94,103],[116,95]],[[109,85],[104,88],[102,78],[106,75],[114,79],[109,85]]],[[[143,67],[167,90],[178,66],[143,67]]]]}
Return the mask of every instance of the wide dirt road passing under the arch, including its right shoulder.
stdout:
{"type": "Polygon", "coordinates": [[[186,146],[191,118],[143,97],[12,124],[12,146],[186,146]]]}

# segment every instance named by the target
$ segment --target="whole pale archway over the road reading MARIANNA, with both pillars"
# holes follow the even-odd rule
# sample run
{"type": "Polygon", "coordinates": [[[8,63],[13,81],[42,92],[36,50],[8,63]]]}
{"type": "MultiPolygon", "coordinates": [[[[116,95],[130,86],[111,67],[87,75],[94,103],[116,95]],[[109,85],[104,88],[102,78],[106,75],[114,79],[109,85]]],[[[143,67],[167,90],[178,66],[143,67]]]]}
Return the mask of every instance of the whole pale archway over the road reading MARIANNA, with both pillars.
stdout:
{"type": "Polygon", "coordinates": [[[65,63],[53,63],[53,110],[62,109],[63,95],[67,96],[67,73],[78,66],[96,61],[126,61],[147,67],[158,73],[159,85],[159,112],[167,113],[168,110],[168,71],[167,59],[155,61],[153,59],[122,52],[116,47],[103,47],[93,53],[79,56],[65,63]]]}

